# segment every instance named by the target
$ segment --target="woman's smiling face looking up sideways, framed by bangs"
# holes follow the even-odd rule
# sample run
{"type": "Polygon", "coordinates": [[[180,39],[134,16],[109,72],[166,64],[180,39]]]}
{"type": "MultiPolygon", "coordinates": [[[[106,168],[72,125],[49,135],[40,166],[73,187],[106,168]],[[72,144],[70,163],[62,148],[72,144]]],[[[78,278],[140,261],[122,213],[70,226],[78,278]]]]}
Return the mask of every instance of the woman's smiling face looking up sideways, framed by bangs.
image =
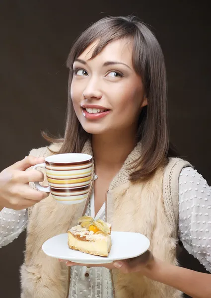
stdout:
{"type": "Polygon", "coordinates": [[[90,134],[134,130],[147,100],[141,76],[133,68],[133,42],[113,41],[89,60],[95,45],[73,63],[70,90],[76,116],[90,134]]]}

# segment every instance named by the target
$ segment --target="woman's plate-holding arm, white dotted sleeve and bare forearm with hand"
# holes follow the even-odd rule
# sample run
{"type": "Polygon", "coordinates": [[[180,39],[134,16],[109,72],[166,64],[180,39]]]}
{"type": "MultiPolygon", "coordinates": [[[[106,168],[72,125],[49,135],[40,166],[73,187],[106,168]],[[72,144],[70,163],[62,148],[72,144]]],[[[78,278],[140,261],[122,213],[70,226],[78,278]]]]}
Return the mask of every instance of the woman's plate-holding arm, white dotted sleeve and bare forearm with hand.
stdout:
{"type": "MultiPolygon", "coordinates": [[[[211,187],[192,168],[183,169],[179,178],[179,237],[185,249],[211,272],[211,187]]],[[[164,263],[149,253],[121,263],[123,272],[142,271],[193,298],[211,297],[210,274],[164,263]]]]}

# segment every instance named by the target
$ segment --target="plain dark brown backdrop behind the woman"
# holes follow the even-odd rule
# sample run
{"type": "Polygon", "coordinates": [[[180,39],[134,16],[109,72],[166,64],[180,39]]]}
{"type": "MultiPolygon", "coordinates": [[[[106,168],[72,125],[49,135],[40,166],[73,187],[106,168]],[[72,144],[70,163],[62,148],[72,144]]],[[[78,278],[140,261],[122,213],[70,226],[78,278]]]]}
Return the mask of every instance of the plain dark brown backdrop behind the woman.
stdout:
{"type": "MultiPolygon", "coordinates": [[[[211,184],[211,20],[200,1],[0,1],[0,170],[63,133],[70,45],[99,18],[134,13],[166,59],[171,140],[211,184]],[[176,2],[176,3],[175,3],[176,2]],[[174,4],[173,4],[174,3],[174,4]]],[[[0,297],[19,298],[25,233],[0,249],[0,297]]],[[[186,266],[203,270],[183,255],[186,266]]]]}

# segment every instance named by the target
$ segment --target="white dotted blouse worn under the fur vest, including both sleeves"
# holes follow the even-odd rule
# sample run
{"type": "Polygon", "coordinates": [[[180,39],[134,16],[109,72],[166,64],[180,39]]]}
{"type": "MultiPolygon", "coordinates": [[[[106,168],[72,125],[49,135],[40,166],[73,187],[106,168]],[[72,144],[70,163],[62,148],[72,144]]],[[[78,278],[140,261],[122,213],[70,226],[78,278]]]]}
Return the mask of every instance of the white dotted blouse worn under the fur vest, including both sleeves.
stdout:
{"type": "MultiPolygon", "coordinates": [[[[94,218],[94,195],[86,211],[94,218]]],[[[105,220],[105,204],[96,219],[105,220]]],[[[27,210],[3,208],[0,212],[0,247],[9,244],[25,229],[27,210]]],[[[178,235],[185,249],[211,272],[211,187],[196,170],[182,169],[179,177],[178,235]]],[[[104,267],[71,267],[69,298],[113,297],[110,271],[104,267]]]]}

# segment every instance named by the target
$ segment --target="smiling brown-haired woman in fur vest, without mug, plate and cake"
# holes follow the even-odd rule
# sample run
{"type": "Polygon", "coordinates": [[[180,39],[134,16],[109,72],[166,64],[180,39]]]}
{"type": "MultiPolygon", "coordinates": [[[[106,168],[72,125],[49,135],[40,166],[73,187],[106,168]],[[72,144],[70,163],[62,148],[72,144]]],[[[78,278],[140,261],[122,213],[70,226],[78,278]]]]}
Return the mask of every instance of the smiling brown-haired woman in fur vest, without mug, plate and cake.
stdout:
{"type": "Polygon", "coordinates": [[[165,66],[156,38],[134,17],[103,18],[79,36],[67,65],[64,139],[48,139],[50,150],[33,149],[0,174],[1,246],[27,225],[21,297],[179,298],[180,291],[211,297],[209,274],[176,266],[178,232],[211,272],[211,188],[170,149],[165,66]],[[93,192],[84,204],[64,206],[32,189],[31,181],[44,176],[25,170],[53,152],[93,155],[93,192]],[[113,230],[145,234],[150,252],[96,267],[46,256],[44,241],[67,232],[82,214],[108,221],[113,230]]]}

